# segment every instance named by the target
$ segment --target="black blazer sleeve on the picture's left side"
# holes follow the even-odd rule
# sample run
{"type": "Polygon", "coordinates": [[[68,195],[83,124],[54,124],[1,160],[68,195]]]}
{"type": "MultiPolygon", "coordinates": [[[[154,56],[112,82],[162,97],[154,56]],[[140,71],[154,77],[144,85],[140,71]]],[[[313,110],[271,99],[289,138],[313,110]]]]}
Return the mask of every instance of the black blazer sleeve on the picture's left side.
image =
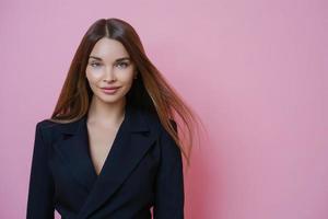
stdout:
{"type": "Polygon", "coordinates": [[[35,129],[26,219],[54,219],[55,217],[54,182],[47,157],[47,145],[44,141],[39,122],[35,129]]]}

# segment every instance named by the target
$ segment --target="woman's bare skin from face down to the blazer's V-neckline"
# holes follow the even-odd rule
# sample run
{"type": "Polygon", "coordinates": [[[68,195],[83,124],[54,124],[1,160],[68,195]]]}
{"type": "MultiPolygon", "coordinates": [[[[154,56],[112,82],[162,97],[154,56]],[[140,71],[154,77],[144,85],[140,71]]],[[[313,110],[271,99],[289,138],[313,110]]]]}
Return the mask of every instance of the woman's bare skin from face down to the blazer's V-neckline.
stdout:
{"type": "Polygon", "coordinates": [[[85,76],[94,95],[86,126],[90,154],[97,175],[125,118],[126,94],[137,77],[136,66],[129,57],[120,42],[107,37],[95,44],[89,57],[85,76]],[[112,85],[120,88],[114,94],[104,93],[102,88],[112,85]]]}

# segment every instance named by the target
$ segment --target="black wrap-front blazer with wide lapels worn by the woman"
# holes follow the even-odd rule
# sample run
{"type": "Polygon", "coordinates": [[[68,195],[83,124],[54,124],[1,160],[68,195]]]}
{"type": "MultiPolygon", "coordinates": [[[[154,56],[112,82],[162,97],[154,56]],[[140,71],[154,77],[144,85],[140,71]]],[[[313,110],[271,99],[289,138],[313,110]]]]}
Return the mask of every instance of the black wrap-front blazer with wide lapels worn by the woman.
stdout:
{"type": "Polygon", "coordinates": [[[154,115],[126,105],[99,175],[86,116],[36,124],[27,219],[150,219],[152,206],[155,219],[183,219],[184,196],[180,150],[154,115]]]}

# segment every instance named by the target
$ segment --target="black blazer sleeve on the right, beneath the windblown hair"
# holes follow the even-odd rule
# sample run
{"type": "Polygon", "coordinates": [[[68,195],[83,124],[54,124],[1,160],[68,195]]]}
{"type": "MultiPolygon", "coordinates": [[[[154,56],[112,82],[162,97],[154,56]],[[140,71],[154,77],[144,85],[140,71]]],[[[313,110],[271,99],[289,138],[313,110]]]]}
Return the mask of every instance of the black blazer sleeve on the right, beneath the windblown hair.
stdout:
{"type": "MultiPolygon", "coordinates": [[[[172,120],[175,130],[176,123],[172,120]]],[[[154,219],[184,219],[181,152],[166,130],[160,137],[161,162],[155,183],[154,219]]]]}

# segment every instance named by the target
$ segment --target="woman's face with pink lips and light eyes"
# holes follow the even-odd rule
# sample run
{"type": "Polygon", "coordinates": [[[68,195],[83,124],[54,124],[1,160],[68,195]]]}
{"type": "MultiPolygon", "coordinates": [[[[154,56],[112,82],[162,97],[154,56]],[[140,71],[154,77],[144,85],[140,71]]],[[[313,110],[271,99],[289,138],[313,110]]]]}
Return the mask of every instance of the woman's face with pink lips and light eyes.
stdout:
{"type": "Polygon", "coordinates": [[[103,37],[94,45],[85,70],[94,97],[105,103],[122,101],[137,76],[129,57],[118,41],[103,37]],[[118,89],[104,90],[104,88],[118,89]]]}

